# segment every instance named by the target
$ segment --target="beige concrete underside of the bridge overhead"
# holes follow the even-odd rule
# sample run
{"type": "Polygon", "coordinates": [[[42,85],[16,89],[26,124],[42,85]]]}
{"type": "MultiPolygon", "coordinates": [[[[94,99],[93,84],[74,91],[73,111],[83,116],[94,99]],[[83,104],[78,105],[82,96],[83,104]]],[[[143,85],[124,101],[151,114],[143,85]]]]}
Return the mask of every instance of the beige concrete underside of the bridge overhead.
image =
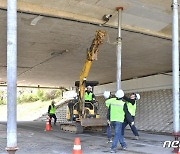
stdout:
{"type": "MultiPolygon", "coordinates": [[[[172,71],[170,2],[18,1],[18,85],[72,86],[95,31],[108,33],[88,77],[116,80],[117,12],[123,6],[122,80],[172,71]],[[120,3],[121,2],[121,3],[120,3]],[[158,5],[157,5],[158,4],[158,5]],[[104,25],[104,14],[112,14],[104,25]]],[[[0,0],[0,82],[6,83],[6,1],[0,0]]]]}

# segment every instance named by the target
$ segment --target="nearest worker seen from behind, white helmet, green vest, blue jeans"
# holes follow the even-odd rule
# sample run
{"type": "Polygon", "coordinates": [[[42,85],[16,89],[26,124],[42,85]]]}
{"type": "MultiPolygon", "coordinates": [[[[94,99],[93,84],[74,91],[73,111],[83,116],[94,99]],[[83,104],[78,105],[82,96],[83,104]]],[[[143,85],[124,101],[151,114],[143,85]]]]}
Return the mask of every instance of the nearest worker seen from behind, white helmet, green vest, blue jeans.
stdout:
{"type": "Polygon", "coordinates": [[[124,137],[122,136],[122,123],[124,122],[125,116],[131,125],[134,124],[133,119],[128,112],[127,104],[122,101],[124,92],[120,89],[115,93],[116,99],[106,100],[106,105],[110,107],[110,121],[111,125],[114,127],[114,139],[111,146],[111,153],[116,153],[117,143],[120,142],[123,149],[126,149],[126,143],[124,142],[124,137]]]}

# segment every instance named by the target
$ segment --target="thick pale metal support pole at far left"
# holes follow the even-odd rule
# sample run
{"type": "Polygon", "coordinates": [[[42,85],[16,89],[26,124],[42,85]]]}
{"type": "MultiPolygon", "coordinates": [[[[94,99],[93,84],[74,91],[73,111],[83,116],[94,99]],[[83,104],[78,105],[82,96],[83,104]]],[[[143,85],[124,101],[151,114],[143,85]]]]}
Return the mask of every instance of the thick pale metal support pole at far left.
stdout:
{"type": "Polygon", "coordinates": [[[7,1],[7,148],[17,148],[16,87],[17,82],[17,0],[7,1]]]}

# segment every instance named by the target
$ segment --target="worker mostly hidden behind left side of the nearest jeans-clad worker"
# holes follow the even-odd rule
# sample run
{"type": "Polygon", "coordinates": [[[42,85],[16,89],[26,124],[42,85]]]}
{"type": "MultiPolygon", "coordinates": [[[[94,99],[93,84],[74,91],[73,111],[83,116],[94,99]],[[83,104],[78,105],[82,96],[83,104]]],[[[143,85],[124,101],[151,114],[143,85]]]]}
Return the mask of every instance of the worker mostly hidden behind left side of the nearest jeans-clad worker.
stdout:
{"type": "Polygon", "coordinates": [[[116,100],[116,98],[112,97],[112,94],[110,91],[105,91],[104,92],[104,98],[106,99],[105,103],[106,103],[106,106],[108,107],[108,110],[107,110],[107,138],[108,138],[108,142],[107,143],[112,143],[112,126],[111,126],[111,122],[110,122],[110,102],[113,102],[113,100],[116,100]]]}

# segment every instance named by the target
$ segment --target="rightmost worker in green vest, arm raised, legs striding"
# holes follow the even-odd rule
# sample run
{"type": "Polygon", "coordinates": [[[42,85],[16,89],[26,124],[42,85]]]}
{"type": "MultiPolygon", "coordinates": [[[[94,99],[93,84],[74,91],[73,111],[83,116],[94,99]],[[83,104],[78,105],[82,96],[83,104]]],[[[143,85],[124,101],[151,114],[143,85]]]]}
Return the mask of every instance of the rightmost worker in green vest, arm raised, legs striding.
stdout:
{"type": "MultiPolygon", "coordinates": [[[[128,111],[131,114],[133,121],[135,120],[135,115],[136,115],[136,102],[137,100],[140,99],[140,95],[136,94],[136,93],[132,93],[130,98],[128,98],[127,96],[124,96],[123,99],[126,101],[127,107],[128,107],[128,111]]],[[[124,136],[124,129],[126,128],[126,126],[128,125],[128,121],[125,119],[123,125],[122,125],[122,135],[124,136]]],[[[135,125],[130,125],[130,128],[135,136],[135,139],[138,140],[139,139],[139,134],[138,131],[135,127],[135,125]]]]}

